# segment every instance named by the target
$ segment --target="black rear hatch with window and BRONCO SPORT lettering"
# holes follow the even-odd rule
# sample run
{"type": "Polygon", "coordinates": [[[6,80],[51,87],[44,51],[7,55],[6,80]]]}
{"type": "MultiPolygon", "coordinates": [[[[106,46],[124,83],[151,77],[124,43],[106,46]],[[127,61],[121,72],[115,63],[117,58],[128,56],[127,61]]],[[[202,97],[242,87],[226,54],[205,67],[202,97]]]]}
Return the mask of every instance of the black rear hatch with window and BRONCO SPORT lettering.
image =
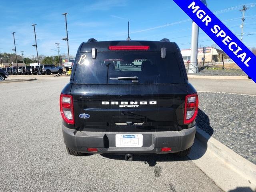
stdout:
{"type": "Polygon", "coordinates": [[[188,88],[179,54],[78,53],[71,88],[76,130],[182,130],[188,88]],[[132,66],[135,60],[141,66],[132,66]]]}

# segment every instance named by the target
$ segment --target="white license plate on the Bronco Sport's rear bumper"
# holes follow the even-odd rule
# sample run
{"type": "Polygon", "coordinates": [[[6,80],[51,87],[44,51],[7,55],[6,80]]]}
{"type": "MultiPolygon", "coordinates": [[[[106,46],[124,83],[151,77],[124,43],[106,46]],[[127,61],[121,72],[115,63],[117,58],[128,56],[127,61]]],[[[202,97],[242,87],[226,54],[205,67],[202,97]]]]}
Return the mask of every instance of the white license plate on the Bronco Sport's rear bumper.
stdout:
{"type": "Polygon", "coordinates": [[[116,134],[116,147],[142,147],[142,134],[116,134]]]}

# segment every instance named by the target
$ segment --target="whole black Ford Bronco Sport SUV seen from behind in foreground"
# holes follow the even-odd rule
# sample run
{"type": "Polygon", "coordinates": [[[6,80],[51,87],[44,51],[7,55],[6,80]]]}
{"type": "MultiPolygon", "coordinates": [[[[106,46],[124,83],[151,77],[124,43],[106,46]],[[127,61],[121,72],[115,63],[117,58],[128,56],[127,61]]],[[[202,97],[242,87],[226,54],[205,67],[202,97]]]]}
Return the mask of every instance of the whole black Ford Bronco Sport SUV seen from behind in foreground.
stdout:
{"type": "Polygon", "coordinates": [[[90,39],[78,48],[60,112],[71,155],[186,156],[196,133],[198,95],[176,43],[90,39]],[[134,68],[136,60],[142,63],[134,68]]]}

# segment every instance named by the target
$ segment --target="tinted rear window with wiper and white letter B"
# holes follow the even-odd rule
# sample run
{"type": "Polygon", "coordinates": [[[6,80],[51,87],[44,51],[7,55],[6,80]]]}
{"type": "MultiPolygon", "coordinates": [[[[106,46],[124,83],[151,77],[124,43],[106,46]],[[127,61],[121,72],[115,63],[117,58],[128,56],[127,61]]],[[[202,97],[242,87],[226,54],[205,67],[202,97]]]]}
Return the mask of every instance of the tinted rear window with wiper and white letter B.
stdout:
{"type": "Polygon", "coordinates": [[[91,52],[78,53],[76,62],[75,84],[166,84],[184,79],[178,54],[171,52],[164,59],[160,52],[98,52],[96,59],[91,52]]]}

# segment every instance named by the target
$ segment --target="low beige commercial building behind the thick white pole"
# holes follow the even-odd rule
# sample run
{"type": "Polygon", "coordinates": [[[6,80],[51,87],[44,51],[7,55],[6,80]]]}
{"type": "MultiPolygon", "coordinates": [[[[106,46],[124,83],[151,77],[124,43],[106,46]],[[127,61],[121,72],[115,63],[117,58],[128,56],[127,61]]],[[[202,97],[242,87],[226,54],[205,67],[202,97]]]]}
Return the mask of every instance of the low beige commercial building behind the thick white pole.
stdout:
{"type": "MultiPolygon", "coordinates": [[[[205,53],[205,59],[204,59],[204,53],[203,53],[203,48],[199,48],[197,52],[197,60],[198,62],[222,62],[224,61],[225,58],[228,58],[227,54],[217,48],[214,47],[207,47],[206,48],[206,53],[205,53]]],[[[184,49],[181,50],[182,58],[184,62],[187,62],[190,60],[190,55],[191,55],[191,49],[184,49]]]]}

